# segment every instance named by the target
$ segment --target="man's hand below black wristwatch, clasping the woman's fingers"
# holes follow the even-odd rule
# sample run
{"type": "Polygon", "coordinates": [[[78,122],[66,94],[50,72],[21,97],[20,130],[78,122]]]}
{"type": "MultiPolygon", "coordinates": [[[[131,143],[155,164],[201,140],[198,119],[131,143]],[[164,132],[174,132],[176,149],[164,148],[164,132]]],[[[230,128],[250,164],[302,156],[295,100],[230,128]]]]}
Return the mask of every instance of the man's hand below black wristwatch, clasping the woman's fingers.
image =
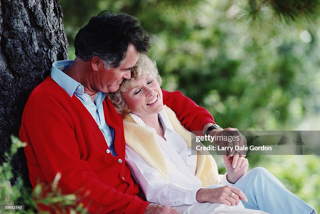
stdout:
{"type": "MultiPolygon", "coordinates": [[[[207,123],[203,126],[203,131],[202,133],[205,135],[206,134],[206,130],[212,125],[212,123],[207,123]]],[[[241,134],[241,132],[239,130],[237,130],[236,128],[226,128],[224,130],[221,129],[214,129],[212,131],[210,131],[209,133],[210,136],[214,137],[216,136],[219,137],[220,139],[223,140],[216,140],[214,141],[214,144],[216,146],[219,146],[220,148],[222,147],[228,147],[229,144],[231,144],[231,140],[224,140],[225,137],[227,137],[228,139],[233,139],[232,140],[232,144],[233,144],[233,149],[230,150],[225,150],[226,153],[224,153],[224,155],[234,155],[236,153],[238,153],[241,157],[245,157],[246,155],[246,150],[240,150],[240,148],[243,147],[247,147],[247,140],[245,139],[245,137],[241,134]],[[239,140],[237,140],[239,139],[239,140]],[[237,146],[237,150],[235,150],[235,146],[237,146]]],[[[219,139],[218,138],[218,139],[219,139]]]]}

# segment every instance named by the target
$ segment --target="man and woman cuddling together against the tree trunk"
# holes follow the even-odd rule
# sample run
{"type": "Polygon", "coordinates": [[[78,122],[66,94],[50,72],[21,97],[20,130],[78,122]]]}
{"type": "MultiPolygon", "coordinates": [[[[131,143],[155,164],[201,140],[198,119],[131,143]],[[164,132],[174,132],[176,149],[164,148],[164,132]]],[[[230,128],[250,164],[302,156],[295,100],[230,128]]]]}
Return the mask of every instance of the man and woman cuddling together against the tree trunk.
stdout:
{"type": "Polygon", "coordinates": [[[204,108],[161,90],[149,46],[125,13],[103,11],[79,30],[76,59],[53,63],[24,109],[33,187],[60,173],[62,193],[90,213],[316,213],[267,170],[247,172],[245,155],[222,155],[221,176],[211,155],[191,155],[190,131],[236,129],[221,130],[204,108]]]}

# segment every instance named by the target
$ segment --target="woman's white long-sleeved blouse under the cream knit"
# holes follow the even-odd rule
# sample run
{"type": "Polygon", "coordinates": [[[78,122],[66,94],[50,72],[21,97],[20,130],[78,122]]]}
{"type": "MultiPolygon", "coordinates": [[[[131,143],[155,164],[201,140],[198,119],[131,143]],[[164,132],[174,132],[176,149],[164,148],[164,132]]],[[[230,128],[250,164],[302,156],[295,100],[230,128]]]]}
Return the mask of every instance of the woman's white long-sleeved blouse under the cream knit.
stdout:
{"type": "MultiPolygon", "coordinates": [[[[126,145],[126,163],[132,177],[137,181],[146,199],[149,202],[168,206],[181,206],[198,203],[196,192],[202,188],[201,180],[195,176],[197,155],[191,155],[191,148],[181,136],[174,131],[165,111],[158,113],[164,128],[164,137],[160,137],[154,128],[147,126],[142,119],[132,114],[134,121],[153,131],[167,165],[170,183],[162,178],[160,173],[135,151],[126,145]]],[[[196,152],[195,152],[196,153],[196,152]]],[[[194,154],[194,153],[193,153],[194,154]]],[[[223,185],[230,185],[227,179],[222,178],[223,185]]]]}

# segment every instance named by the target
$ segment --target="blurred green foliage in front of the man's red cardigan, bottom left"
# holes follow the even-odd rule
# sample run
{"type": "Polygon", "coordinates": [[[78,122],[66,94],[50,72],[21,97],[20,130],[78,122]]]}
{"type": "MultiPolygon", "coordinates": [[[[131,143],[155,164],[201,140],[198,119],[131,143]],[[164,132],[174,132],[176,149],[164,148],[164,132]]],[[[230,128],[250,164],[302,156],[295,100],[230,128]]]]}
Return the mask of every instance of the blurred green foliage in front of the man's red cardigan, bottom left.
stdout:
{"type": "MultiPolygon", "coordinates": [[[[19,213],[32,214],[39,210],[38,204],[52,206],[56,208],[59,204],[61,211],[58,213],[83,213],[87,211],[82,204],[77,204],[77,198],[74,194],[62,194],[58,187],[61,174],[58,173],[50,186],[38,184],[31,195],[31,190],[24,186],[23,181],[19,178],[17,184],[13,186],[10,180],[13,178],[11,172],[11,160],[17,150],[25,147],[26,143],[22,143],[18,138],[12,137],[12,146],[10,154],[6,153],[7,162],[0,166],[0,204],[1,205],[25,205],[25,210],[19,210],[19,213]]],[[[16,210],[0,210],[2,213],[13,214],[16,210]]],[[[46,213],[46,212],[39,212],[46,213]]]]}

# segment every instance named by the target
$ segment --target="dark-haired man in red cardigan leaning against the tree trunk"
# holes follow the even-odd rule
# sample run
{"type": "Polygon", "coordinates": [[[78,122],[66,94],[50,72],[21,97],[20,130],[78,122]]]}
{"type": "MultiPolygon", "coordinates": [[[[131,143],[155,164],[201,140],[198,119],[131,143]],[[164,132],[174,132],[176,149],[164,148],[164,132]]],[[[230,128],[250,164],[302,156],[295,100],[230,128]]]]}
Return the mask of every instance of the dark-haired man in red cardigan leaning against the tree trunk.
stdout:
{"type": "MultiPolygon", "coordinates": [[[[101,12],[79,30],[76,59],[54,63],[51,76],[34,89],[24,109],[20,139],[28,144],[33,187],[52,183],[60,173],[62,193],[81,196],[90,213],[178,213],[138,195],[124,163],[122,117],[105,98],[130,78],[138,55],[149,46],[138,20],[124,13],[101,12]]],[[[163,94],[164,103],[189,130],[214,123],[204,108],[180,92],[163,94]]],[[[40,209],[54,213],[60,208],[40,209]]]]}

